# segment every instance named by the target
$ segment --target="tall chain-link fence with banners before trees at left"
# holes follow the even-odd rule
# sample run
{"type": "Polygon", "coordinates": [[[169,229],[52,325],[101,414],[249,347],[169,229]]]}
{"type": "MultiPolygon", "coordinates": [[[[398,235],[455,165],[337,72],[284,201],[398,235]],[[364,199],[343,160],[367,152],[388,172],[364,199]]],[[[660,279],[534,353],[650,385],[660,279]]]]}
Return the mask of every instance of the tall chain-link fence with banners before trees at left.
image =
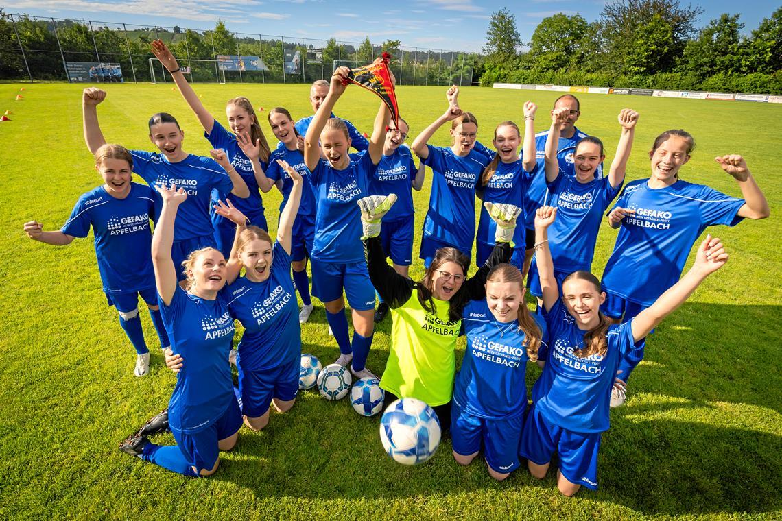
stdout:
{"type": "Polygon", "coordinates": [[[143,27],[129,23],[0,15],[0,80],[170,81],[150,51],[160,38],[192,81],[309,83],[336,65],[360,66],[382,52],[400,85],[470,85],[477,55],[361,41],[143,27]]]}

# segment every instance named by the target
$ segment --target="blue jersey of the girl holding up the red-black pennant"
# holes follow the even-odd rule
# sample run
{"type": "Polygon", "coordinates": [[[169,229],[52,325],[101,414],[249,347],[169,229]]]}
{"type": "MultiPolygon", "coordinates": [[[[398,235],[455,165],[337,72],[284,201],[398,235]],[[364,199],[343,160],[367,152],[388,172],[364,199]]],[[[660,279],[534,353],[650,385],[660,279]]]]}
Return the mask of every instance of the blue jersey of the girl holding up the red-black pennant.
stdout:
{"type": "Polygon", "coordinates": [[[335,170],[326,160],[318,161],[311,177],[315,194],[314,259],[364,261],[357,201],[369,194],[369,178],[377,169],[368,152],[351,155],[345,170],[335,170]]]}

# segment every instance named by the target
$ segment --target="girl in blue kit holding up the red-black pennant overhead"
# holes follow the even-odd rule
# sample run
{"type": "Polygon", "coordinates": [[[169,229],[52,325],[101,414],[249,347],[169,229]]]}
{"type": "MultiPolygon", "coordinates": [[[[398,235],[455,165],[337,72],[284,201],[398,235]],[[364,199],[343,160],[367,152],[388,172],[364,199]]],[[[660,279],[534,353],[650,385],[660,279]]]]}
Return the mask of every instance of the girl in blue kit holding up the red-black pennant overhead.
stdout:
{"type": "Polygon", "coordinates": [[[345,123],[329,117],[345,92],[346,74],[347,68],[339,67],[332,76],[328,95],[304,137],[304,162],[312,173],[315,194],[312,293],[325,304],[328,325],[339,345],[335,363],[350,366],[353,376],[364,378],[375,376],[365,367],[375,326],[375,290],[361,246],[361,212],[356,201],[368,195],[369,178],[382,158],[391,114],[381,102],[369,148],[350,157],[345,123]],[[323,161],[321,148],[326,158],[323,161]],[[353,310],[352,342],[348,339],[343,288],[353,310]]]}

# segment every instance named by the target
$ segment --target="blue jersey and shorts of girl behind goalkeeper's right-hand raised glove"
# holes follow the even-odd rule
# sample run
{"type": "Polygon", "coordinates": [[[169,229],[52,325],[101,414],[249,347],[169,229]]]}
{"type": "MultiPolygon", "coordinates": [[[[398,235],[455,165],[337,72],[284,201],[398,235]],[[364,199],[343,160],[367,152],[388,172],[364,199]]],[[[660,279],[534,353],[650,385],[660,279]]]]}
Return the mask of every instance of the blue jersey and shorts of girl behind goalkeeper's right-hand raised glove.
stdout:
{"type": "MultiPolygon", "coordinates": [[[[513,243],[516,248],[524,248],[526,244],[526,229],[522,223],[524,223],[527,180],[528,174],[524,171],[521,159],[508,163],[500,161],[497,163],[497,171],[489,183],[482,187],[484,202],[508,203],[522,209],[522,214],[518,216],[519,225],[513,234],[513,243]]],[[[475,241],[493,245],[496,231],[497,223],[489,216],[486,207],[481,205],[481,216],[478,221],[478,234],[475,236],[475,241]]]]}

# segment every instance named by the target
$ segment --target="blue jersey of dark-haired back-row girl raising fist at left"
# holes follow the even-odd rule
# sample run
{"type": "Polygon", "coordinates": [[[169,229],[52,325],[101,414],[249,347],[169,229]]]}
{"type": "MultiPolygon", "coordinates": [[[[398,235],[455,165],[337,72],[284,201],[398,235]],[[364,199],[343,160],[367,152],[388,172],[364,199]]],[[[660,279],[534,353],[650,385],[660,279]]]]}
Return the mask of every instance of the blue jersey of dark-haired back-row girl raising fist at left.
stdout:
{"type": "Polygon", "coordinates": [[[131,150],[133,155],[133,171],[152,187],[155,194],[156,209],[160,211],[163,200],[155,190],[155,186],[165,184],[170,187],[176,184],[185,188],[188,198],[179,205],[177,220],[174,222],[174,241],[184,241],[194,237],[211,236],[213,233],[210,220],[211,192],[217,189],[228,193],[233,189],[233,181],[225,173],[223,167],[213,159],[199,155],[188,154],[180,162],[168,162],[157,152],[131,150]]]}

